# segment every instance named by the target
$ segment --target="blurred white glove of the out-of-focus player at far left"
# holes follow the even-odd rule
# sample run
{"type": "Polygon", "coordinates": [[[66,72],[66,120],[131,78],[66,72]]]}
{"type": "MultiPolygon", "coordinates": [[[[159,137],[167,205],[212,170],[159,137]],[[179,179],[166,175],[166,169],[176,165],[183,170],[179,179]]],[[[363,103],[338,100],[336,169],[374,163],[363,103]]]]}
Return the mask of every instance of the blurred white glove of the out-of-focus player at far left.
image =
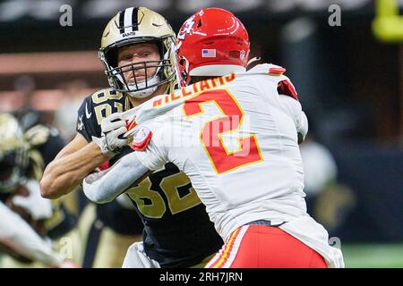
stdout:
{"type": "Polygon", "coordinates": [[[50,199],[40,196],[39,182],[30,179],[22,184],[30,193],[28,197],[16,195],[13,204],[26,210],[34,220],[47,219],[52,216],[52,203],[50,199]]]}

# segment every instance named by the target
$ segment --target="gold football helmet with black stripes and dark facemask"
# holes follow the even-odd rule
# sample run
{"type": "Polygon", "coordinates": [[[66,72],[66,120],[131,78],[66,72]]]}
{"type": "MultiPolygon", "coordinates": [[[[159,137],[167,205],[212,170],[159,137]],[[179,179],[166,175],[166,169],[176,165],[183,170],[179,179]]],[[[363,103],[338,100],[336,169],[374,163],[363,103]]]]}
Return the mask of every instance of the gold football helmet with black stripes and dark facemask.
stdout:
{"type": "Polygon", "coordinates": [[[108,22],[101,38],[99,59],[105,66],[110,87],[132,97],[149,97],[161,86],[167,88],[163,92],[170,93],[179,84],[176,34],[163,16],[145,7],[126,8],[108,22]],[[118,66],[119,49],[136,44],[156,44],[159,61],[153,57],[153,61],[118,66]],[[125,72],[133,72],[133,82],[124,79],[124,74],[128,75],[125,72]],[[144,75],[144,80],[136,80],[136,72],[144,75]]]}

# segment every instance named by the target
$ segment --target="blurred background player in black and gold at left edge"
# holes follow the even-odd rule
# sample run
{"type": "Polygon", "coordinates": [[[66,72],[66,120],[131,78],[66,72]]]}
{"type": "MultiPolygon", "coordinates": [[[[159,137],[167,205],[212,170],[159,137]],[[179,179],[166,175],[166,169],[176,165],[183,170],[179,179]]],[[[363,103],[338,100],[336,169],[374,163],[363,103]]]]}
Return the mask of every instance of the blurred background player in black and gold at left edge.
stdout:
{"type": "Polygon", "coordinates": [[[0,246],[5,244],[10,254],[0,256],[0,268],[60,266],[63,257],[78,264],[76,217],[60,199],[49,201],[39,194],[44,166],[64,147],[63,139],[40,124],[23,133],[11,114],[0,114],[0,133],[0,246]]]}

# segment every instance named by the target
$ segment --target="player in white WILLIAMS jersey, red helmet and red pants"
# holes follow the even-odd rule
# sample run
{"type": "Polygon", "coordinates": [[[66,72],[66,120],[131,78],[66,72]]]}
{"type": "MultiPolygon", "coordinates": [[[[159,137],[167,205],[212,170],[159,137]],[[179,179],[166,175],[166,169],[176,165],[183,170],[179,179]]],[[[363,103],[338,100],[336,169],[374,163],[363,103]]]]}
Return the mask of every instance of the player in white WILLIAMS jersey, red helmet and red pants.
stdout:
{"type": "Polygon", "coordinates": [[[245,71],[247,31],[226,10],[193,14],[177,38],[184,80],[193,84],[133,111],[127,135],[142,152],[88,176],[87,197],[110,201],[172,162],[225,240],[207,267],[344,266],[328,232],[306,213],[298,141],[308,126],[285,69],[245,71]]]}

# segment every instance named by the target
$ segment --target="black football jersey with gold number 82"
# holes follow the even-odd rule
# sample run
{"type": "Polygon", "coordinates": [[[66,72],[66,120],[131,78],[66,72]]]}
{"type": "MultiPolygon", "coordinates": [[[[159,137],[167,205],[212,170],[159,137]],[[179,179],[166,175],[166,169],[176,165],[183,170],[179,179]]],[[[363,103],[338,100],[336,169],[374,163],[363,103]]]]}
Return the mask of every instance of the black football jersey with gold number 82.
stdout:
{"type": "MultiPolygon", "coordinates": [[[[101,136],[100,122],[103,118],[129,108],[130,102],[123,93],[111,88],[101,89],[82,102],[78,111],[77,131],[90,142],[92,136],[101,136]]],[[[129,152],[134,151],[124,147],[110,159],[109,165],[129,152]]],[[[144,249],[161,267],[199,264],[222,246],[223,241],[210,222],[205,206],[201,204],[189,178],[175,164],[167,163],[139,185],[127,189],[126,194],[132,199],[144,225],[144,249]]],[[[99,205],[102,206],[105,205],[99,205]]],[[[116,204],[116,207],[123,206],[116,204]]],[[[123,220],[123,217],[115,219],[123,220]]],[[[134,222],[133,225],[138,225],[134,222]]],[[[118,222],[112,220],[109,223],[118,222]]]]}

